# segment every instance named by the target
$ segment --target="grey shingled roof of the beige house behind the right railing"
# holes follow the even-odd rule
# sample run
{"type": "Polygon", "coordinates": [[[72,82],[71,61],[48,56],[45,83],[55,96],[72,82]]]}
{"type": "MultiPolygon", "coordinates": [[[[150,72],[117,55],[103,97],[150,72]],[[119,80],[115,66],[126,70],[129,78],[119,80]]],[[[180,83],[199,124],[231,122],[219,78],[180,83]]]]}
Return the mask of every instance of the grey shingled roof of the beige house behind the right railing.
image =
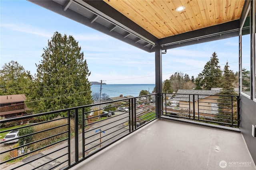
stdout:
{"type": "Polygon", "coordinates": [[[193,101],[194,100],[203,99],[208,97],[209,95],[214,95],[220,93],[221,90],[186,90],[186,89],[179,89],[176,96],[173,97],[172,100],[178,101],[193,101]],[[193,95],[194,94],[194,95],[193,95]]]}

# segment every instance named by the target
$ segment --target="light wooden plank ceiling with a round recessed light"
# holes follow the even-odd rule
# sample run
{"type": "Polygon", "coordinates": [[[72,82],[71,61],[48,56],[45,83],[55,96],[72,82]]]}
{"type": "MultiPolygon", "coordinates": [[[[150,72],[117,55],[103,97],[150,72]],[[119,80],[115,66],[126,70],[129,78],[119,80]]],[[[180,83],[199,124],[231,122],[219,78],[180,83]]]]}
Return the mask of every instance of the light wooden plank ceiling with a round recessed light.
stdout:
{"type": "Polygon", "coordinates": [[[244,0],[104,0],[158,39],[238,20],[244,0]],[[176,8],[185,6],[182,12],[176,8]]]}

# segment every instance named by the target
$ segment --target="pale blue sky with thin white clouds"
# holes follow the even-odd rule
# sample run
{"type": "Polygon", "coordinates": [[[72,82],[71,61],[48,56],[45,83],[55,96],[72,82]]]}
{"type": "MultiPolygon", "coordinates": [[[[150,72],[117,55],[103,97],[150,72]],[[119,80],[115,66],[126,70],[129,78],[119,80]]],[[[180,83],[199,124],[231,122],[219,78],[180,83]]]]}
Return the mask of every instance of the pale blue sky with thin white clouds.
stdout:
{"type": "MultiPolygon", "coordinates": [[[[154,84],[154,53],[148,53],[60,16],[26,0],[0,0],[0,67],[17,61],[36,74],[43,48],[55,31],[72,35],[84,52],[90,81],[107,84],[154,84]]],[[[167,50],[162,55],[162,80],[175,72],[190,77],[203,70],[216,52],[223,69],[238,71],[238,37],[167,50]]]]}

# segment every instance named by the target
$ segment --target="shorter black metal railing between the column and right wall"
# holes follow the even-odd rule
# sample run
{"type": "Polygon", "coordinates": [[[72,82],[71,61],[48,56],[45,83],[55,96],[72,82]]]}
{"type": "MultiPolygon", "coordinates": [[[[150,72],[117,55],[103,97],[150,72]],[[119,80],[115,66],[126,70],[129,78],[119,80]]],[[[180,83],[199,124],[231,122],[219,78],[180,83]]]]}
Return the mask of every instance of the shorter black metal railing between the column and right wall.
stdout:
{"type": "Polygon", "coordinates": [[[240,126],[240,98],[232,95],[162,95],[163,115],[229,127],[240,126]]]}

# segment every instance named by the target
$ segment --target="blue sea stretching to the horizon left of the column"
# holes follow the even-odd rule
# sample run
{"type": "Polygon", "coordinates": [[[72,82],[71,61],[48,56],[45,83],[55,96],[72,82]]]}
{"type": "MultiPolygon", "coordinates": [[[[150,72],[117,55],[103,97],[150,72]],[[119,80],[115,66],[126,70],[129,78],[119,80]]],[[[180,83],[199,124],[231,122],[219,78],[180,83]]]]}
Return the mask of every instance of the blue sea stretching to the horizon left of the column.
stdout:
{"type": "MultiPolygon", "coordinates": [[[[108,94],[109,97],[123,96],[138,97],[141,90],[149,90],[150,93],[154,90],[155,84],[102,84],[101,93],[108,94]]],[[[91,86],[92,93],[100,92],[100,84],[91,86]]]]}

